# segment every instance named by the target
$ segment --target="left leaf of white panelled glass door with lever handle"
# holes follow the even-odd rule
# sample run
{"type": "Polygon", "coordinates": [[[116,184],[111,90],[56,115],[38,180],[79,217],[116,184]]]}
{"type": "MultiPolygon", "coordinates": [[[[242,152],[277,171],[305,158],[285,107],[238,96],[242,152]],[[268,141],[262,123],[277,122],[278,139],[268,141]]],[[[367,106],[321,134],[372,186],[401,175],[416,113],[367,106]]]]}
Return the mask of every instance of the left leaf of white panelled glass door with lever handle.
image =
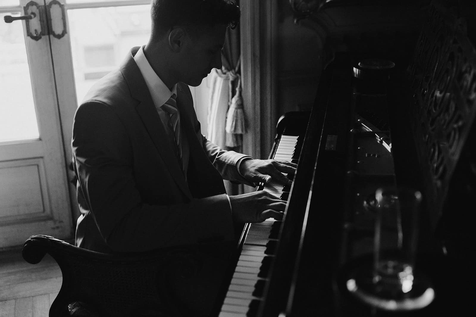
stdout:
{"type": "Polygon", "coordinates": [[[40,36],[44,5],[0,0],[0,248],[74,234],[50,39],[40,36]]]}

